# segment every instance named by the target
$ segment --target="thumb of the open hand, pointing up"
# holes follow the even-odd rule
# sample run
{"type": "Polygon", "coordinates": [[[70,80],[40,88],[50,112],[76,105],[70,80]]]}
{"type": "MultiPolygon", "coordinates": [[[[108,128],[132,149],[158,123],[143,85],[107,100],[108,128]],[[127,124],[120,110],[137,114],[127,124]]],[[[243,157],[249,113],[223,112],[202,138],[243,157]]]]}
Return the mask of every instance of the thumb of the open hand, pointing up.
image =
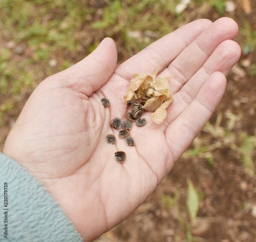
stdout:
{"type": "Polygon", "coordinates": [[[91,54],[60,73],[61,85],[90,96],[111,77],[116,62],[116,44],[107,37],[91,54]]]}

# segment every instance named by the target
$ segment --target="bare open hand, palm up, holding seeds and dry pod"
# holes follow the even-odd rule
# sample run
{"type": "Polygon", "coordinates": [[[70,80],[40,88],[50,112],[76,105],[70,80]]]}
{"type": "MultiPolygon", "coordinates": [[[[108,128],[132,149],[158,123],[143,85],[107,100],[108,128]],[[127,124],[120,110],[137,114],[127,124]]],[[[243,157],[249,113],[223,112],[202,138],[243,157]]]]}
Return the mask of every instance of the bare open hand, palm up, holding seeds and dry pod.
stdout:
{"type": "Polygon", "coordinates": [[[29,97],[4,147],[52,194],[85,241],[121,222],[157,187],[220,101],[225,74],[240,57],[228,18],[196,20],[157,40],[116,68],[110,38],[84,60],[44,80],[29,97]],[[160,69],[174,102],[166,120],[134,127],[129,147],[110,126],[125,119],[123,95],[133,73],[160,69]],[[111,105],[104,108],[101,99],[111,105]],[[114,153],[126,152],[124,163],[114,153]]]}

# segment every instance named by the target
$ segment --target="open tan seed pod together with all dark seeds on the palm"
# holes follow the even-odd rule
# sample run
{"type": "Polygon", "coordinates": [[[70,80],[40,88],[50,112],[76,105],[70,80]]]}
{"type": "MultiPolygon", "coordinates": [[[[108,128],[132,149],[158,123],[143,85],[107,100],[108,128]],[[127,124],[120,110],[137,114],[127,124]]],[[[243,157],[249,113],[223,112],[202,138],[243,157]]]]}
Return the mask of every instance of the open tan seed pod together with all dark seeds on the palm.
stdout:
{"type": "MultiPolygon", "coordinates": [[[[158,71],[153,74],[133,74],[128,91],[124,96],[125,102],[131,107],[131,112],[127,113],[127,120],[122,121],[116,117],[110,122],[111,127],[122,128],[118,136],[125,139],[128,146],[134,146],[134,140],[129,132],[133,127],[132,122],[135,122],[138,127],[146,124],[146,119],[140,118],[143,110],[153,112],[152,121],[159,124],[166,118],[166,108],[173,101],[168,79],[157,77],[157,73],[158,71]],[[137,100],[140,100],[140,103],[137,100]]],[[[110,105],[109,100],[105,97],[102,98],[101,102],[104,107],[110,105]]],[[[110,144],[116,143],[116,137],[113,134],[108,134],[106,140],[110,144]]],[[[124,162],[126,154],[124,151],[117,151],[115,158],[117,162],[124,162]]]]}

